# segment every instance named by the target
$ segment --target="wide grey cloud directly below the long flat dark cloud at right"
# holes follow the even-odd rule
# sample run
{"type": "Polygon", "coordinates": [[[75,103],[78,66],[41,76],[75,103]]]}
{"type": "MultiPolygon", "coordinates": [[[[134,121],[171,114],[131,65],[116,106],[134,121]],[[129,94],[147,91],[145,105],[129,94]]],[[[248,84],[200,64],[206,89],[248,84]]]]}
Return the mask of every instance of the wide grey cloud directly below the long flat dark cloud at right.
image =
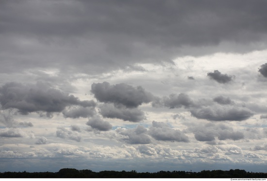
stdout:
{"type": "Polygon", "coordinates": [[[240,140],[244,138],[244,134],[240,131],[234,131],[232,127],[223,124],[211,124],[208,123],[204,126],[197,126],[192,129],[195,138],[201,142],[218,140],[240,140]]]}

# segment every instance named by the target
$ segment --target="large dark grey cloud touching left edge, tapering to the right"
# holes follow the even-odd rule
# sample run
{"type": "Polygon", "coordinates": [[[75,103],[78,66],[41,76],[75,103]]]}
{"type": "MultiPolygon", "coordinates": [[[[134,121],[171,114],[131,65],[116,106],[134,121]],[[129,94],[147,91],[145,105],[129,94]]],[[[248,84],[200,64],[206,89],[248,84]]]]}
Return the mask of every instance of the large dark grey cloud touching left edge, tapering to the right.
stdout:
{"type": "Polygon", "coordinates": [[[0,87],[0,103],[2,109],[18,109],[21,114],[35,111],[61,112],[71,105],[95,106],[94,101],[80,101],[73,95],[42,83],[23,85],[17,82],[0,87]]]}

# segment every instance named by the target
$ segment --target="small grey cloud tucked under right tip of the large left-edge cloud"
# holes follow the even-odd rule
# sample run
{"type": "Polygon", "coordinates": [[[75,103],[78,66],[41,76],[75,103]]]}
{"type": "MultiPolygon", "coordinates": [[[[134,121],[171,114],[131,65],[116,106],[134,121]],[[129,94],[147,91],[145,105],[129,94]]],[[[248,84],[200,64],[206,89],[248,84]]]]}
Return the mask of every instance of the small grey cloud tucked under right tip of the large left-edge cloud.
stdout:
{"type": "Polygon", "coordinates": [[[65,108],[62,111],[63,115],[65,118],[79,118],[79,117],[83,117],[83,118],[87,118],[90,116],[95,115],[96,111],[95,108],[84,108],[81,106],[72,106],[69,108],[65,108]]]}

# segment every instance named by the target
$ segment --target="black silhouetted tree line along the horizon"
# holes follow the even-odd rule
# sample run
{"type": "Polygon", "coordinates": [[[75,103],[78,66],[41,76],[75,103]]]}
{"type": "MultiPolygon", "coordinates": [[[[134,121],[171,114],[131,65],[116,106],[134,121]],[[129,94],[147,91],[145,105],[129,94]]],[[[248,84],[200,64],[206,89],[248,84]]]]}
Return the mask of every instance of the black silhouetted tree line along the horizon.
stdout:
{"type": "Polygon", "coordinates": [[[0,178],[267,178],[267,173],[246,172],[240,169],[202,170],[200,172],[159,171],[154,173],[132,171],[100,171],[77,170],[63,168],[58,172],[3,172],[0,178]]]}

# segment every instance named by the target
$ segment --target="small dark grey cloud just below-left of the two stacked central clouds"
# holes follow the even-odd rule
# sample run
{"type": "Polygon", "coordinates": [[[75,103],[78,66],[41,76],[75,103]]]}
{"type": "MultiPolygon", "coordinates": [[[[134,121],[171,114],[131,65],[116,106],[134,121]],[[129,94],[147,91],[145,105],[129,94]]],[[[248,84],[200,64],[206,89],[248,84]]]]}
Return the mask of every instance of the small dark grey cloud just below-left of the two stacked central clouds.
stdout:
{"type": "Polygon", "coordinates": [[[100,131],[108,131],[112,128],[112,125],[108,121],[102,120],[99,116],[90,118],[86,125],[100,131]]]}

